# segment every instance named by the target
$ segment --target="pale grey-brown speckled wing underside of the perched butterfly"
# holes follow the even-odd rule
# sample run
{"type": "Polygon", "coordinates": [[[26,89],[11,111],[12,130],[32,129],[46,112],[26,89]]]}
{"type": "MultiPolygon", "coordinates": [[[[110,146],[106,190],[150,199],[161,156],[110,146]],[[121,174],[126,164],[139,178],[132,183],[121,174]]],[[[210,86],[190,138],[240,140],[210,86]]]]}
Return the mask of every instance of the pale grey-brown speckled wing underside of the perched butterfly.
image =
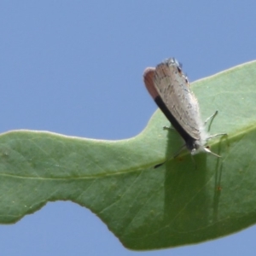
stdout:
{"type": "Polygon", "coordinates": [[[200,138],[201,118],[198,102],[177,61],[170,59],[155,68],[154,85],[166,107],[183,129],[200,138]]]}

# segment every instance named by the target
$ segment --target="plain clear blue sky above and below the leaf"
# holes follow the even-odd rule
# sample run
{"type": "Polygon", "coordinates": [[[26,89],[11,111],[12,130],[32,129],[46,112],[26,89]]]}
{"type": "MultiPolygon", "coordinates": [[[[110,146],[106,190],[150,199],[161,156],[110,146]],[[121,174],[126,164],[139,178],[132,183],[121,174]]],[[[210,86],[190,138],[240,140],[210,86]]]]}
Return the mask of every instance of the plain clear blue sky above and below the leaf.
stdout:
{"type": "MultiPolygon", "coordinates": [[[[256,59],[256,2],[1,1],[0,131],[118,140],[156,106],[143,70],[167,57],[190,81],[256,59]]],[[[256,99],[255,99],[256,100],[256,99]]],[[[52,202],[0,226],[1,255],[254,255],[256,227],[194,246],[132,252],[90,210],[52,202]]]]}

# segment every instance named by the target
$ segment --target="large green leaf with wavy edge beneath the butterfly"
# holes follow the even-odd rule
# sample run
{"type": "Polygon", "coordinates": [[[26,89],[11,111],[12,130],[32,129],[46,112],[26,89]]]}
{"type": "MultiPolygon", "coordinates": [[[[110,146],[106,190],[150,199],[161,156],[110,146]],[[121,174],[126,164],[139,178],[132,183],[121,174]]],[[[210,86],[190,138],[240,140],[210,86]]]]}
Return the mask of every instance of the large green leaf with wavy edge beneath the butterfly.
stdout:
{"type": "MultiPolygon", "coordinates": [[[[15,223],[48,201],[88,207],[134,250],[177,247],[256,221],[256,61],[192,84],[203,119],[215,110],[211,150],[184,151],[157,111],[137,137],[99,141],[44,131],[0,136],[0,222],[15,223]]],[[[146,90],[145,90],[145,93],[146,90]]]]}

